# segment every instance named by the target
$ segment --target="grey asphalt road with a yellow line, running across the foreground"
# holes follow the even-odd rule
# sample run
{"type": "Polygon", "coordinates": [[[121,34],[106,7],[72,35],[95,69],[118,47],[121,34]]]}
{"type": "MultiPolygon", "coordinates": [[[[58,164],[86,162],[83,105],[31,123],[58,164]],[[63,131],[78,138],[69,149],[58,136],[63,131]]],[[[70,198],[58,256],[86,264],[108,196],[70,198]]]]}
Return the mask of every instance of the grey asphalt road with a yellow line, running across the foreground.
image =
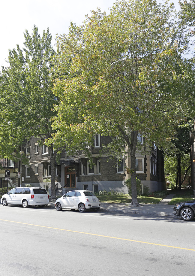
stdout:
{"type": "Polygon", "coordinates": [[[194,275],[195,221],[0,205],[1,275],[194,275]]]}

